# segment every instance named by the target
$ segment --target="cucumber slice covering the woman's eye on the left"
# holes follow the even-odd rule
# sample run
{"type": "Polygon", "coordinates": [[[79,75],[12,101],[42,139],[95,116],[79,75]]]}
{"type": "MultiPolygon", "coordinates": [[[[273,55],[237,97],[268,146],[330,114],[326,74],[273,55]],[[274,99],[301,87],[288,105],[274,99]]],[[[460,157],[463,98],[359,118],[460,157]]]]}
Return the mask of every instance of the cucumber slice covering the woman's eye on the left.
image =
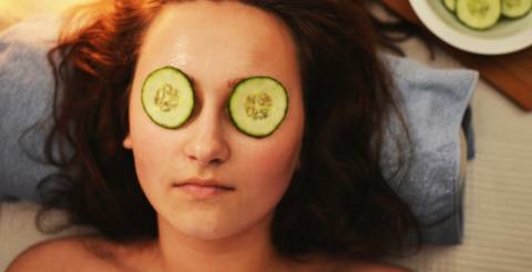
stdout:
{"type": "Polygon", "coordinates": [[[147,117],[166,129],[181,127],[194,110],[191,80],[175,67],[163,67],[151,72],[142,84],[141,95],[147,117]]]}

